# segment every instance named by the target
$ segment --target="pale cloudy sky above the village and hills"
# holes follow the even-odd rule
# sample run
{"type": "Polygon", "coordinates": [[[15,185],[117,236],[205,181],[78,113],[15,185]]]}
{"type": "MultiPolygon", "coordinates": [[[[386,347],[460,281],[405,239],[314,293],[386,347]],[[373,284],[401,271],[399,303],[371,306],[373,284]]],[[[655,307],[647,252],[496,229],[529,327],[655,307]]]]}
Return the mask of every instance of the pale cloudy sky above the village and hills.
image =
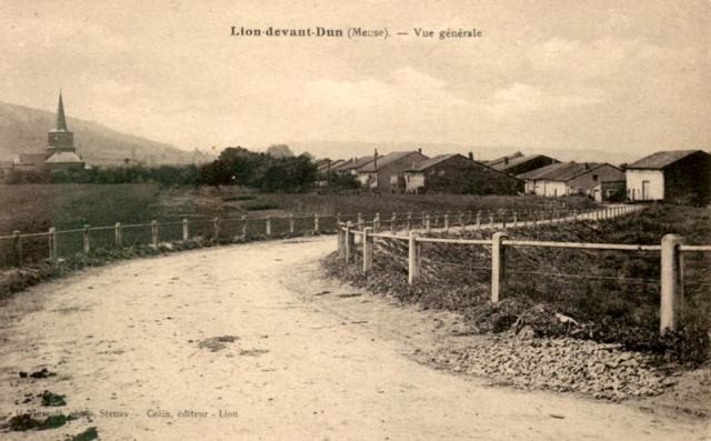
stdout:
{"type": "Polygon", "coordinates": [[[54,111],[61,88],[68,116],[182,149],[711,148],[711,0],[2,0],[0,18],[0,101],[54,111]]]}

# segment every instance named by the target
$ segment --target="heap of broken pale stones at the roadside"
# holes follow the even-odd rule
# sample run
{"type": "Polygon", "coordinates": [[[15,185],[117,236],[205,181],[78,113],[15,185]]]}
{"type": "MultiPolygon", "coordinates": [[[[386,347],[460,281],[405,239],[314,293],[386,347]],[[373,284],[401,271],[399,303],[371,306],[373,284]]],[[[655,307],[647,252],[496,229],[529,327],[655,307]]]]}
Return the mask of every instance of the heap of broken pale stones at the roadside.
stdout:
{"type": "Polygon", "coordinates": [[[674,383],[655,359],[622,351],[618,344],[578,339],[485,337],[475,347],[440,348],[430,363],[522,388],[575,391],[597,399],[623,400],[660,394],[674,383]]]}

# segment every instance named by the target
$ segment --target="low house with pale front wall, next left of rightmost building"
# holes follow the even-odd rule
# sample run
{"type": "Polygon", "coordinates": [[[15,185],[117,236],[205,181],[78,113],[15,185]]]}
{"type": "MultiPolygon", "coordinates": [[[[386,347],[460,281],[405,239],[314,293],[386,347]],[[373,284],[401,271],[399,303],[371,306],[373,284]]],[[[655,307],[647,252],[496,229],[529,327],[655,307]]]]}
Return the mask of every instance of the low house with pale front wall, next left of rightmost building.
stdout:
{"type": "MultiPolygon", "coordinates": [[[[609,163],[559,162],[518,176],[525,181],[525,193],[543,197],[594,194],[602,182],[620,181],[624,172],[609,163]]],[[[599,190],[600,191],[600,190],[599,190]]]]}

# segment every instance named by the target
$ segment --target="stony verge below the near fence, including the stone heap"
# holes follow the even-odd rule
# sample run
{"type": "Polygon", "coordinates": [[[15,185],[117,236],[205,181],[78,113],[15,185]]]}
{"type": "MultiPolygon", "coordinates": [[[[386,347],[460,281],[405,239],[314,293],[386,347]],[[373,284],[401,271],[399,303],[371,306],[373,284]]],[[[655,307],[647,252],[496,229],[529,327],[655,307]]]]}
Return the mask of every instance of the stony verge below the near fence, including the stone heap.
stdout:
{"type": "MultiPolygon", "coordinates": [[[[333,255],[322,264],[329,277],[356,283],[399,303],[419,308],[434,303],[425,298],[434,294],[421,288],[404,293],[399,287],[402,274],[364,279],[357,265],[346,267],[333,255]]],[[[574,392],[605,401],[654,399],[682,412],[711,415],[709,363],[691,369],[669,360],[665,354],[593,341],[587,324],[545,303],[505,299],[493,305],[479,299],[479,303],[465,304],[460,310],[447,304],[434,309],[449,310],[450,315],[435,323],[442,335],[438,344],[414,350],[413,357],[419,362],[487,378],[495,384],[574,392]],[[695,380],[689,380],[694,375],[695,380]],[[675,389],[678,384],[691,388],[689,383],[697,385],[694,392],[675,389]]]]}

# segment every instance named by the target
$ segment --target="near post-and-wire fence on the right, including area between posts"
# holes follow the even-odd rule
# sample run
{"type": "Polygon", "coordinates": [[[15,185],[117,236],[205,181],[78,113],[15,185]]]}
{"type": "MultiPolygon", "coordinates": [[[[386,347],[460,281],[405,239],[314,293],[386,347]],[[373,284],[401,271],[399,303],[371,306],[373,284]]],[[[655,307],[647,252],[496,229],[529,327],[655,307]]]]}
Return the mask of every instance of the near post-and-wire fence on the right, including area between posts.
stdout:
{"type": "MultiPolygon", "coordinates": [[[[623,207],[614,216],[637,210],[623,207]]],[[[609,217],[569,213],[565,220],[603,218],[609,217]]],[[[434,231],[429,221],[425,232],[434,231]]],[[[492,225],[498,232],[491,238],[455,239],[422,235],[411,225],[407,235],[399,235],[382,232],[378,222],[344,223],[339,229],[339,257],[356,262],[364,274],[388,271],[407,277],[411,285],[485,290],[493,302],[523,292],[534,301],[598,302],[609,309],[601,314],[614,314],[618,300],[633,303],[644,307],[640,313],[659,320],[661,332],[675,328],[684,294],[699,299],[711,292],[711,245],[687,245],[674,234],[651,245],[510,240],[505,231],[515,223],[502,220],[492,225]],[[649,308],[654,304],[657,309],[649,308]]]]}

